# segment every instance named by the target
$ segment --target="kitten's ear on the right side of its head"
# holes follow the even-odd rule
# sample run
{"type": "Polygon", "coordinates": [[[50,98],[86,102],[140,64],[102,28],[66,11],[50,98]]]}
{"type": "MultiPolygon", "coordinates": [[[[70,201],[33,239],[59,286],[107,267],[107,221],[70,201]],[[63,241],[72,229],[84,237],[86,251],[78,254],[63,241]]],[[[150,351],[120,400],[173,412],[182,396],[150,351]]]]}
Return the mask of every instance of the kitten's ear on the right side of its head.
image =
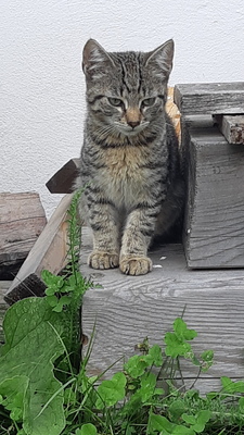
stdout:
{"type": "Polygon", "coordinates": [[[168,78],[172,70],[174,40],[169,39],[163,46],[147,53],[145,66],[153,67],[157,76],[168,78]]]}

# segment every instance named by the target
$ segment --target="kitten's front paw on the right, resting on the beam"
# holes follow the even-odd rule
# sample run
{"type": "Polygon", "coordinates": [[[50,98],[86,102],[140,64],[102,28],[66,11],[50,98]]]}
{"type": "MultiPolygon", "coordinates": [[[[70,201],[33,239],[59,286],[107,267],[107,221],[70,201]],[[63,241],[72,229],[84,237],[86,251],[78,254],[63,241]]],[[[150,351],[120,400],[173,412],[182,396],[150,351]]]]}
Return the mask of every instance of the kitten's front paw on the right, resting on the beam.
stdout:
{"type": "Polygon", "coordinates": [[[126,275],[145,275],[152,271],[153,263],[149,257],[123,256],[119,269],[126,275]]]}

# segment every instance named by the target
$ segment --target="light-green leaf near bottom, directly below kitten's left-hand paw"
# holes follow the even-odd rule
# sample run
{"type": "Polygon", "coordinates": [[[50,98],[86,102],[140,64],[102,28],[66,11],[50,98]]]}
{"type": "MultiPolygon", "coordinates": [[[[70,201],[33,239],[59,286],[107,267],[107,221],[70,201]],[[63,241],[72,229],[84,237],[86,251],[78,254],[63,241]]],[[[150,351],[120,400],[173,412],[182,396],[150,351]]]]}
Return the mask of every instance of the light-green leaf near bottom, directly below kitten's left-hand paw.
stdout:
{"type": "Polygon", "coordinates": [[[102,409],[104,406],[112,407],[118,400],[124,399],[126,383],[126,376],[121,372],[115,373],[110,381],[103,381],[98,387],[99,398],[95,403],[97,408],[102,409]]]}

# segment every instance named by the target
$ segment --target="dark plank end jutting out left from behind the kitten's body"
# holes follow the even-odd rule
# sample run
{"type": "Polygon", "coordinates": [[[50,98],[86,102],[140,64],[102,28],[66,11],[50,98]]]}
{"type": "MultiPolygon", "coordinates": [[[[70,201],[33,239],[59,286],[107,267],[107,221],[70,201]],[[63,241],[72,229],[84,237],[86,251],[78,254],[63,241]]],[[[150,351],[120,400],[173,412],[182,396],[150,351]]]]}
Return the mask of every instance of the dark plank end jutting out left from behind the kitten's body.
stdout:
{"type": "Polygon", "coordinates": [[[51,194],[72,194],[78,175],[79,159],[70,159],[46,184],[51,194]]]}

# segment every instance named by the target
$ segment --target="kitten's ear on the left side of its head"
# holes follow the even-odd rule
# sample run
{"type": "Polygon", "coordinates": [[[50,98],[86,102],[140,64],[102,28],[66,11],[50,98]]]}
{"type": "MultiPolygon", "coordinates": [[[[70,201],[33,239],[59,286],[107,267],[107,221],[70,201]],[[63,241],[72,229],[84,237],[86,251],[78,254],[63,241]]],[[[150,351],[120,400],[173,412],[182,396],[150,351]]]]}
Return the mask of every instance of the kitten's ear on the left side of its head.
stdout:
{"type": "Polygon", "coordinates": [[[89,79],[101,78],[107,73],[107,69],[114,66],[114,62],[110,54],[94,39],[89,39],[84,47],[82,70],[89,79]]]}

